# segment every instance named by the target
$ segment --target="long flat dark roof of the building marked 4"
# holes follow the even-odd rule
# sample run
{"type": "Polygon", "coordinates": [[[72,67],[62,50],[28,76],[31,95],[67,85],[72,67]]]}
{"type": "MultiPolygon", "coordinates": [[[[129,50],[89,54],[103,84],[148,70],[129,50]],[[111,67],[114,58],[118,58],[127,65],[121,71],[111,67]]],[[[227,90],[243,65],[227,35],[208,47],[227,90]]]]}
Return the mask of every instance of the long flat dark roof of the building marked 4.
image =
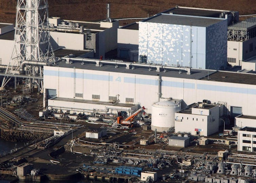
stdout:
{"type": "Polygon", "coordinates": [[[184,79],[202,79],[217,82],[227,82],[227,83],[239,83],[256,85],[256,74],[240,73],[240,72],[225,72],[225,71],[215,71],[215,70],[202,70],[202,69],[191,69],[191,74],[188,75],[185,71],[179,70],[167,70],[167,72],[156,72],[156,69],[152,68],[151,71],[145,67],[135,66],[135,69],[126,69],[125,66],[103,64],[102,67],[96,67],[94,63],[86,63],[81,65],[81,62],[73,61],[72,64],[66,64],[66,61],[60,61],[56,63],[57,67],[64,68],[74,68],[77,69],[87,69],[87,70],[97,70],[106,72],[119,72],[119,73],[130,73],[130,74],[143,74],[151,76],[165,76],[165,77],[177,77],[184,79]],[[209,75],[209,79],[208,79],[209,75]]]}

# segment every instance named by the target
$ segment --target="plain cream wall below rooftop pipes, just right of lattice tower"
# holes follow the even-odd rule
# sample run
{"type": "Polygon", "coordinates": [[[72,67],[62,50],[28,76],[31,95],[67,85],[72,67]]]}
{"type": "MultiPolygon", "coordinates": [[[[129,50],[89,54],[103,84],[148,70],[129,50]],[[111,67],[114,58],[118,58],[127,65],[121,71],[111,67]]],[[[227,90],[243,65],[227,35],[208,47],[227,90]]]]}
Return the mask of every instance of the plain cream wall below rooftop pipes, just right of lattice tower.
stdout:
{"type": "Polygon", "coordinates": [[[50,31],[50,41],[53,49],[66,48],[66,49],[85,49],[85,35],[66,32],[53,32],[50,31]]]}

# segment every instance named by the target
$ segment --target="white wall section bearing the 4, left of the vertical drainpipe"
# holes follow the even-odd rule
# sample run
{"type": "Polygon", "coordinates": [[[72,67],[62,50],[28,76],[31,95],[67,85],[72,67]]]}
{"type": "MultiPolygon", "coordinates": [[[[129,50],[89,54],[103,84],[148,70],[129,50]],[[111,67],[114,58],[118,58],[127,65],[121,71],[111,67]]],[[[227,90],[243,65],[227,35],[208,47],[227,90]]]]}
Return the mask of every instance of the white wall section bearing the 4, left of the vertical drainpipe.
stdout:
{"type": "Polygon", "coordinates": [[[57,97],[63,98],[74,98],[75,93],[83,93],[83,98],[78,99],[92,100],[92,95],[100,95],[99,101],[105,102],[109,101],[109,96],[119,94],[120,103],[133,98],[134,105],[143,104],[148,108],[146,112],[151,113],[152,103],[158,101],[158,76],[45,66],[45,89],[56,89],[57,97]]]}

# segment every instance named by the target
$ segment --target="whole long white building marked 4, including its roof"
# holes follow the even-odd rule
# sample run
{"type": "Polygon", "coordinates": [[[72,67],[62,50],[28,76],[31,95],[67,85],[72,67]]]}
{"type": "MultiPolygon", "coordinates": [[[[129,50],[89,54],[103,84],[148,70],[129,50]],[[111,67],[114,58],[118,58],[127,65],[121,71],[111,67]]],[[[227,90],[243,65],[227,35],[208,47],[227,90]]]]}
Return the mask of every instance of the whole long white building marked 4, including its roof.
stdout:
{"type": "Polygon", "coordinates": [[[255,114],[255,74],[198,69],[187,74],[186,68],[156,72],[152,65],[145,64],[128,69],[124,62],[97,63],[102,65],[99,67],[95,60],[85,59],[84,65],[82,59],[67,60],[57,62],[57,67],[44,67],[45,107],[107,111],[111,106],[114,109],[110,110],[135,111],[140,105],[151,114],[153,103],[172,97],[182,99],[182,108],[204,99],[223,104],[220,116],[230,115],[233,119],[239,114],[255,114]]]}

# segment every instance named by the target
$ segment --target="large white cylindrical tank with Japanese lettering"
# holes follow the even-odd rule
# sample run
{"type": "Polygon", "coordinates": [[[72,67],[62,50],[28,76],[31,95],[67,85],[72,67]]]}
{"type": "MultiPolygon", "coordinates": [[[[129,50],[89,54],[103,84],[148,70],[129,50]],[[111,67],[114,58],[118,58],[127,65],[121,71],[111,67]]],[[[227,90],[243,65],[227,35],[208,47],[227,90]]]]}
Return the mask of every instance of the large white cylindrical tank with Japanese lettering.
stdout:
{"type": "Polygon", "coordinates": [[[163,132],[175,124],[175,112],[181,110],[180,102],[160,101],[152,104],[151,130],[163,132]]]}

